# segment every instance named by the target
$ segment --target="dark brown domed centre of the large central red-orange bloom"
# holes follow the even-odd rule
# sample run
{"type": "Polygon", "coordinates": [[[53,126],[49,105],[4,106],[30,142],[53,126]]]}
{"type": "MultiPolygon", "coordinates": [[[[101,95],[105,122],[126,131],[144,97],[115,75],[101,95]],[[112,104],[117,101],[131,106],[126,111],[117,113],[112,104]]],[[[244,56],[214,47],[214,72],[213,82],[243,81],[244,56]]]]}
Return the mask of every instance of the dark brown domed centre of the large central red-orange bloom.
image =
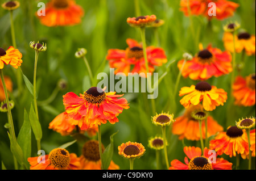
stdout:
{"type": "Polygon", "coordinates": [[[84,99],[93,104],[100,104],[106,99],[106,93],[98,87],[90,87],[84,92],[84,99]]]}

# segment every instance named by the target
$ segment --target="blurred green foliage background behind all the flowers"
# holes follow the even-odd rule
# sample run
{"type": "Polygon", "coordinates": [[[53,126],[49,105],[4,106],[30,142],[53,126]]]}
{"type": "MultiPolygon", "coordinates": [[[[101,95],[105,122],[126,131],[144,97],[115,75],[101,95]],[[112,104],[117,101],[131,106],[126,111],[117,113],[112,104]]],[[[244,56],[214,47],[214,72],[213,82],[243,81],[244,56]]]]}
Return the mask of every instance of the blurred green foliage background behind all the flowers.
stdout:
{"type": "MultiPolygon", "coordinates": [[[[1,0],[1,4],[2,4],[1,0]]],[[[98,73],[98,67],[104,64],[104,71],[109,73],[108,62],[105,62],[105,56],[108,49],[118,48],[125,49],[127,47],[126,39],[132,38],[141,41],[141,35],[136,28],[130,27],[126,23],[128,17],[134,17],[134,1],[130,0],[77,0],[77,4],[84,9],[85,15],[81,24],[72,27],[46,27],[40,24],[36,18],[38,2],[20,0],[19,9],[14,11],[14,25],[16,33],[16,42],[18,49],[23,54],[23,64],[20,67],[23,73],[33,80],[34,72],[34,56],[35,52],[29,47],[30,41],[39,41],[47,43],[47,51],[39,54],[38,72],[37,72],[37,93],[38,100],[46,100],[57,86],[60,79],[67,81],[67,89],[60,91],[56,98],[46,106],[39,106],[39,120],[43,129],[42,149],[48,154],[53,148],[73,141],[71,136],[61,136],[48,129],[49,123],[61,112],[64,111],[62,96],[67,92],[75,92],[80,94],[90,87],[88,84],[88,73],[84,61],[75,58],[75,52],[78,48],[86,48],[88,53],[86,57],[94,74],[98,73]]],[[[174,90],[175,81],[179,70],[177,69],[177,61],[181,60],[184,52],[195,54],[198,51],[198,43],[203,43],[204,47],[210,43],[213,47],[224,50],[222,36],[224,31],[222,27],[236,20],[241,24],[241,29],[255,35],[255,1],[254,0],[236,0],[240,4],[235,15],[225,20],[216,20],[208,22],[201,16],[193,16],[193,24],[199,35],[199,42],[195,42],[191,33],[191,23],[189,18],[184,16],[179,10],[179,0],[139,0],[142,15],[155,14],[158,19],[163,19],[165,24],[158,28],[160,47],[166,51],[168,58],[167,64],[161,68],[156,68],[159,77],[170,62],[175,61],[168,67],[168,74],[158,87],[159,95],[155,99],[156,111],[158,113],[165,111],[174,113],[175,117],[181,115],[184,111],[180,105],[181,99],[178,95],[170,96],[174,90]],[[169,103],[169,104],[168,104],[169,103]],[[167,105],[167,106],[166,106],[167,105]]],[[[7,49],[11,44],[10,32],[10,15],[7,10],[0,9],[0,47],[7,49]]],[[[156,45],[155,34],[152,28],[146,29],[147,45],[156,45]]],[[[237,55],[239,61],[241,54],[237,55]]],[[[17,89],[17,81],[14,71],[10,66],[3,69],[5,75],[9,75],[14,83],[14,90],[17,89]]],[[[242,70],[242,75],[246,76],[255,73],[255,56],[246,56],[246,65],[242,70]]],[[[196,81],[181,77],[179,89],[183,86],[191,86],[196,81]]],[[[230,92],[230,75],[224,75],[219,78],[211,78],[209,82],[218,88],[230,92]]],[[[15,124],[15,132],[18,134],[23,123],[24,109],[30,110],[32,96],[24,86],[23,94],[13,99],[16,106],[12,110],[15,124]]],[[[102,143],[106,147],[109,144],[109,137],[113,133],[119,131],[114,136],[114,155],[113,161],[120,166],[120,169],[129,169],[129,161],[118,155],[117,147],[123,142],[136,141],[142,143],[146,148],[146,153],[140,159],[134,162],[134,169],[155,169],[155,151],[148,148],[148,138],[161,134],[160,127],[155,127],[151,123],[151,104],[144,103],[145,94],[126,94],[125,98],[130,103],[129,110],[124,110],[118,116],[119,123],[114,125],[102,125],[102,143]],[[141,96],[142,95],[142,96],[141,96]]],[[[229,94],[228,94],[229,96],[229,94]]],[[[12,98],[10,98],[12,99],[12,98]]],[[[255,106],[253,107],[237,107],[228,108],[229,102],[222,107],[217,107],[210,115],[214,117],[224,127],[234,125],[236,120],[246,117],[255,116],[255,106]],[[231,111],[230,111],[231,110],[231,111]]],[[[2,161],[7,169],[13,169],[13,157],[10,152],[10,141],[7,136],[7,129],[4,125],[7,122],[6,113],[0,113],[0,161],[2,161]]],[[[171,127],[167,130],[168,159],[184,161],[183,153],[184,145],[199,146],[199,141],[184,140],[181,142],[177,136],[171,134],[171,127]],[[184,145],[183,145],[184,144],[184,145]]],[[[94,137],[97,140],[97,136],[94,137]]],[[[81,151],[77,144],[68,147],[68,151],[76,153],[80,156],[81,151]]],[[[36,141],[32,133],[32,152],[31,156],[37,156],[36,141]]],[[[163,153],[162,158],[163,157],[163,153]]],[[[230,162],[236,163],[236,158],[224,158],[230,162]]],[[[255,169],[255,158],[253,158],[253,168],[255,169]]],[[[162,159],[162,169],[165,169],[164,159],[162,159]]],[[[241,160],[241,169],[247,169],[247,161],[241,160]]]]}

